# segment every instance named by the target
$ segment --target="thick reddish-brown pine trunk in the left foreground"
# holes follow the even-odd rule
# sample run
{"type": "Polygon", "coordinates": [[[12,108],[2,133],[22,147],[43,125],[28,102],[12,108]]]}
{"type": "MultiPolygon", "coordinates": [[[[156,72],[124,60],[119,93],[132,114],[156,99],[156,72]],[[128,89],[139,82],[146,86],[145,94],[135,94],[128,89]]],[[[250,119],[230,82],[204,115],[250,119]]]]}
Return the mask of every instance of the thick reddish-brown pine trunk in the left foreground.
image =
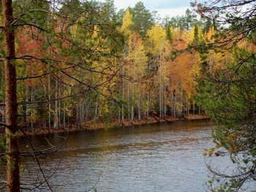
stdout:
{"type": "Polygon", "coordinates": [[[18,145],[18,107],[15,64],[15,33],[12,26],[12,0],[2,0],[4,23],[5,128],[7,158],[7,191],[20,191],[20,150],[18,145]]]}

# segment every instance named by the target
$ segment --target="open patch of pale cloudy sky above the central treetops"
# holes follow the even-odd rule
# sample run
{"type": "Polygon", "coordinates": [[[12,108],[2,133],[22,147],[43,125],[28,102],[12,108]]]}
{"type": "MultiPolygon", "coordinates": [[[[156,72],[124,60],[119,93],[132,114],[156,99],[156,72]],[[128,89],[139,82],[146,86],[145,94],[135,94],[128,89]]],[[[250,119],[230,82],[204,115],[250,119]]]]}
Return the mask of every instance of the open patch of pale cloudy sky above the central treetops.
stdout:
{"type": "Polygon", "coordinates": [[[161,18],[185,15],[187,8],[191,9],[190,0],[115,0],[115,5],[117,9],[126,9],[138,1],[142,1],[146,9],[157,11],[161,18]]]}

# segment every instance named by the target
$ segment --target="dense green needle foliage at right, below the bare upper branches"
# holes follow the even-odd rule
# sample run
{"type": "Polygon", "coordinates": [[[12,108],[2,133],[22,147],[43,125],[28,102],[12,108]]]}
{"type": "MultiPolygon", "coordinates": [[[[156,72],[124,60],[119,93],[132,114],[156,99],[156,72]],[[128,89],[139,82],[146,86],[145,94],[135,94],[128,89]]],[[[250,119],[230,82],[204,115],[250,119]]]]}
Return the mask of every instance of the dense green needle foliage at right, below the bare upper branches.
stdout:
{"type": "MultiPolygon", "coordinates": [[[[226,69],[209,71],[204,76],[197,96],[206,113],[221,124],[213,130],[217,148],[227,150],[237,166],[236,173],[220,183],[217,191],[236,191],[246,180],[255,180],[255,57],[238,46],[233,48],[232,55],[233,61],[226,69]]],[[[223,174],[219,172],[219,175],[223,174]]]]}

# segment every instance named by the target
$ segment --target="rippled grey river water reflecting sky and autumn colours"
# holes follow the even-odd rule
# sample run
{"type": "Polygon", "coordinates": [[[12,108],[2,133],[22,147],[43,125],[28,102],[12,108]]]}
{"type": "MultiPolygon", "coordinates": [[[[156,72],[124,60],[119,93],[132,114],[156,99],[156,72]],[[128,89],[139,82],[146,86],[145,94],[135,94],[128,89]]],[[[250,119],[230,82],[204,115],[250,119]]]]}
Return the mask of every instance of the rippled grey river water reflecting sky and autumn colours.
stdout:
{"type": "MultiPolygon", "coordinates": [[[[31,140],[39,149],[49,147],[48,141],[63,142],[60,136],[31,140]]],[[[28,148],[26,141],[21,145],[28,148]]],[[[205,191],[208,170],[201,154],[211,145],[208,120],[83,131],[69,134],[64,147],[40,157],[40,164],[53,191],[88,191],[94,185],[99,192],[205,191]]],[[[33,158],[23,161],[23,187],[31,188],[42,174],[33,158]]],[[[45,183],[37,189],[49,191],[45,183]]]]}

